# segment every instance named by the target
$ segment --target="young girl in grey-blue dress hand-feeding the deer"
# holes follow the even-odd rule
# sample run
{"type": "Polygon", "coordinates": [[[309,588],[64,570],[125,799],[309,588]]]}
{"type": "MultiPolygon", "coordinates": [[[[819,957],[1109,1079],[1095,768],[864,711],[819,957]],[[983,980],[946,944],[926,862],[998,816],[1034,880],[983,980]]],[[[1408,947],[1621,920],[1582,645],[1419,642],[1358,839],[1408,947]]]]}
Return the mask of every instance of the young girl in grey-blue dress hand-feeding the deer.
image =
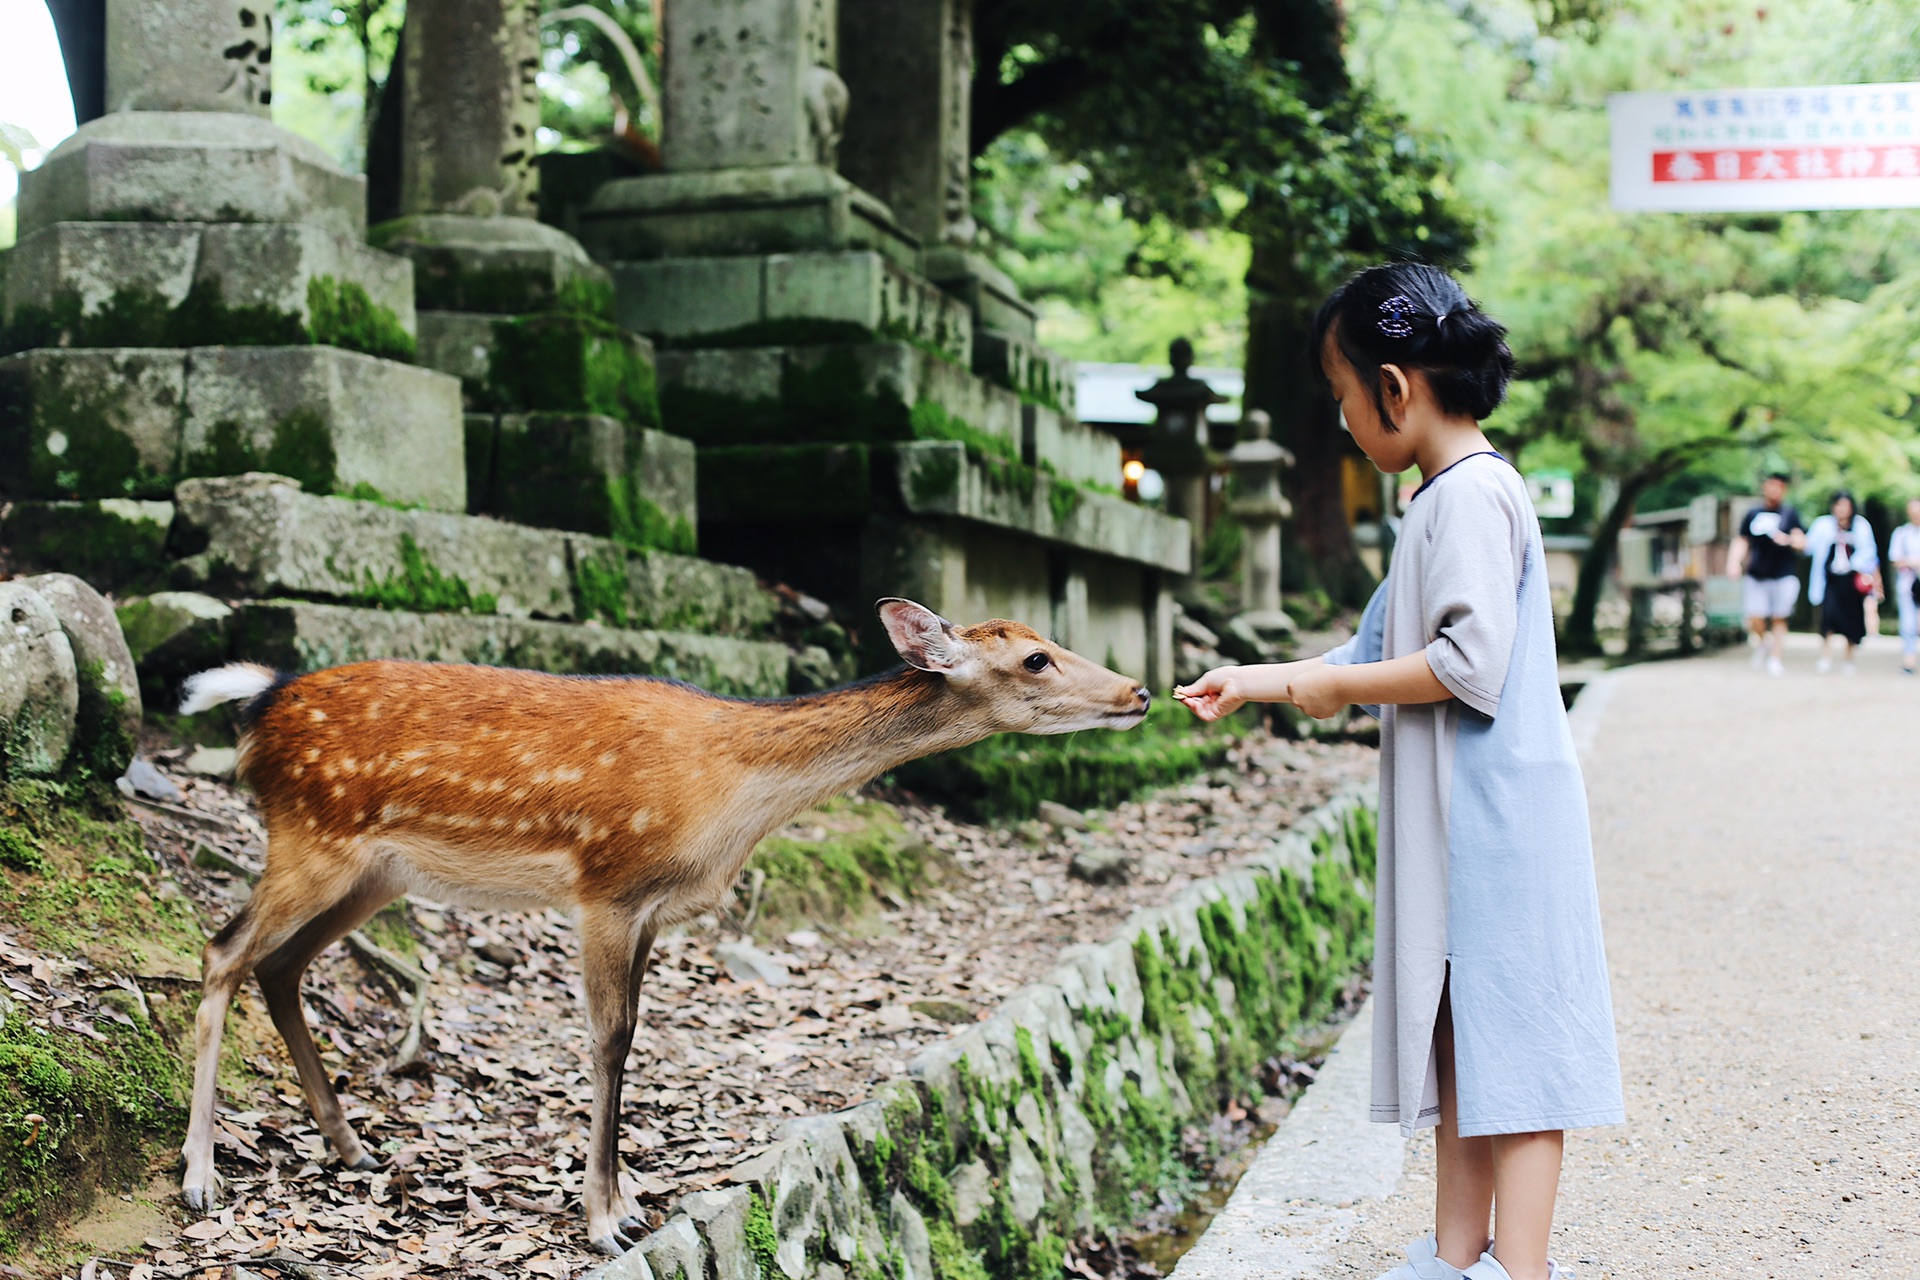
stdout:
{"type": "Polygon", "coordinates": [[[1202,720],[1380,716],[1373,1119],[1440,1126],[1436,1232],[1382,1280],[1563,1274],[1561,1130],[1624,1121],[1540,526],[1478,424],[1513,374],[1503,336],[1432,267],[1373,267],[1327,299],[1313,342],[1346,428],[1380,470],[1425,476],[1392,568],[1323,658],[1175,689],[1202,720]]]}

